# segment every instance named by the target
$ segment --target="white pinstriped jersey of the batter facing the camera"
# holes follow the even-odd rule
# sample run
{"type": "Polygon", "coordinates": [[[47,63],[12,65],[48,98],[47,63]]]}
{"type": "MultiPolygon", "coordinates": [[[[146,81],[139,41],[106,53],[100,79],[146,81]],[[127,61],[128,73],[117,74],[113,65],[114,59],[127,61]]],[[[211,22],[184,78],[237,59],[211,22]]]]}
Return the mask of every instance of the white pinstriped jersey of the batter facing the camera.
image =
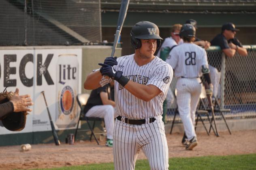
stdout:
{"type": "MultiPolygon", "coordinates": [[[[134,60],[134,54],[117,58],[117,65],[114,65],[116,71],[123,71],[123,76],[139,83],[152,84],[158,87],[162,92],[150,101],[143,101],[135,97],[118,82],[115,81],[115,104],[117,115],[130,119],[145,119],[162,115],[162,104],[166,98],[167,91],[173,78],[173,69],[162,59],[155,57],[146,65],[139,66],[134,60]]],[[[109,83],[102,77],[101,86],[109,83]]]]}

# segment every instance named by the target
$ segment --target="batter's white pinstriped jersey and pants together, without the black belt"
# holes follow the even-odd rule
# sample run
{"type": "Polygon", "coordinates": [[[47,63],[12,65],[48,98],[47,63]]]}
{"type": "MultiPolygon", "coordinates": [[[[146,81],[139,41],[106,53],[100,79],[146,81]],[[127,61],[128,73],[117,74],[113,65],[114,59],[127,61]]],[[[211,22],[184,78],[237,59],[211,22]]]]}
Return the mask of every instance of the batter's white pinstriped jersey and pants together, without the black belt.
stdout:
{"type": "MultiPolygon", "coordinates": [[[[122,121],[115,120],[113,132],[115,170],[134,170],[140,150],[147,156],[152,170],[168,170],[168,146],[161,115],[173,69],[158,57],[139,66],[134,61],[134,54],[119,57],[117,62],[113,67],[116,71],[123,71],[123,76],[139,84],[152,84],[162,92],[150,101],[143,101],[115,81],[115,110],[122,116],[122,121]],[[152,117],[156,118],[154,122],[149,121],[152,117]],[[145,124],[129,124],[125,118],[145,119],[145,124]]],[[[103,77],[100,84],[103,86],[110,81],[103,77]]]]}

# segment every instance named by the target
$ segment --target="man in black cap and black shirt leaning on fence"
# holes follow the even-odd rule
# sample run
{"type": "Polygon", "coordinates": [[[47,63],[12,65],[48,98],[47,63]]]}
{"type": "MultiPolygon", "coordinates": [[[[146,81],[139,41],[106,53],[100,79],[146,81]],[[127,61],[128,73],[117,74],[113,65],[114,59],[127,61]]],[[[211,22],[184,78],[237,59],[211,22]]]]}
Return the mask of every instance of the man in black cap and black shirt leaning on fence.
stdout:
{"type": "MultiPolygon", "coordinates": [[[[222,32],[218,34],[211,40],[212,46],[220,46],[222,52],[230,58],[234,57],[235,53],[238,52],[241,56],[247,55],[247,50],[243,48],[241,42],[235,38],[235,34],[239,29],[235,28],[233,23],[224,23],[222,25],[222,32]]],[[[209,70],[211,80],[213,82],[213,95],[215,97],[218,93],[218,85],[220,83],[220,69],[222,55],[217,57],[208,57],[209,58],[209,70]]],[[[219,94],[219,93],[218,93],[219,94]]]]}

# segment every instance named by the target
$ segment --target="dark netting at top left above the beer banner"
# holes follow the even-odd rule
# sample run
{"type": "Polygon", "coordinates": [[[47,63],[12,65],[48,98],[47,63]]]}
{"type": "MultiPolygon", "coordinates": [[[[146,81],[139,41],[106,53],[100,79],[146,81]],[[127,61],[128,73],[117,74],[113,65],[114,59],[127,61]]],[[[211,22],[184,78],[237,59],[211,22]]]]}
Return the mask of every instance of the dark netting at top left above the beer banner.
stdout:
{"type": "Polygon", "coordinates": [[[100,0],[1,0],[0,46],[101,42],[100,0]]]}

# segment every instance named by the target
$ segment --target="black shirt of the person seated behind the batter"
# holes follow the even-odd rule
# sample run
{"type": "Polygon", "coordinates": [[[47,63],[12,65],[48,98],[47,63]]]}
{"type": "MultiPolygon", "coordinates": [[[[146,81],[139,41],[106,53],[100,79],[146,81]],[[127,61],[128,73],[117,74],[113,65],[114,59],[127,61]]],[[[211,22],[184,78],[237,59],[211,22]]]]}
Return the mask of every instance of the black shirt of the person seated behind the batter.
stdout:
{"type": "Polygon", "coordinates": [[[84,113],[86,113],[88,110],[90,110],[94,106],[103,105],[101,98],[100,98],[100,92],[107,92],[108,86],[109,85],[107,84],[103,87],[99,87],[95,90],[92,90],[90,97],[83,109],[84,113]]]}

